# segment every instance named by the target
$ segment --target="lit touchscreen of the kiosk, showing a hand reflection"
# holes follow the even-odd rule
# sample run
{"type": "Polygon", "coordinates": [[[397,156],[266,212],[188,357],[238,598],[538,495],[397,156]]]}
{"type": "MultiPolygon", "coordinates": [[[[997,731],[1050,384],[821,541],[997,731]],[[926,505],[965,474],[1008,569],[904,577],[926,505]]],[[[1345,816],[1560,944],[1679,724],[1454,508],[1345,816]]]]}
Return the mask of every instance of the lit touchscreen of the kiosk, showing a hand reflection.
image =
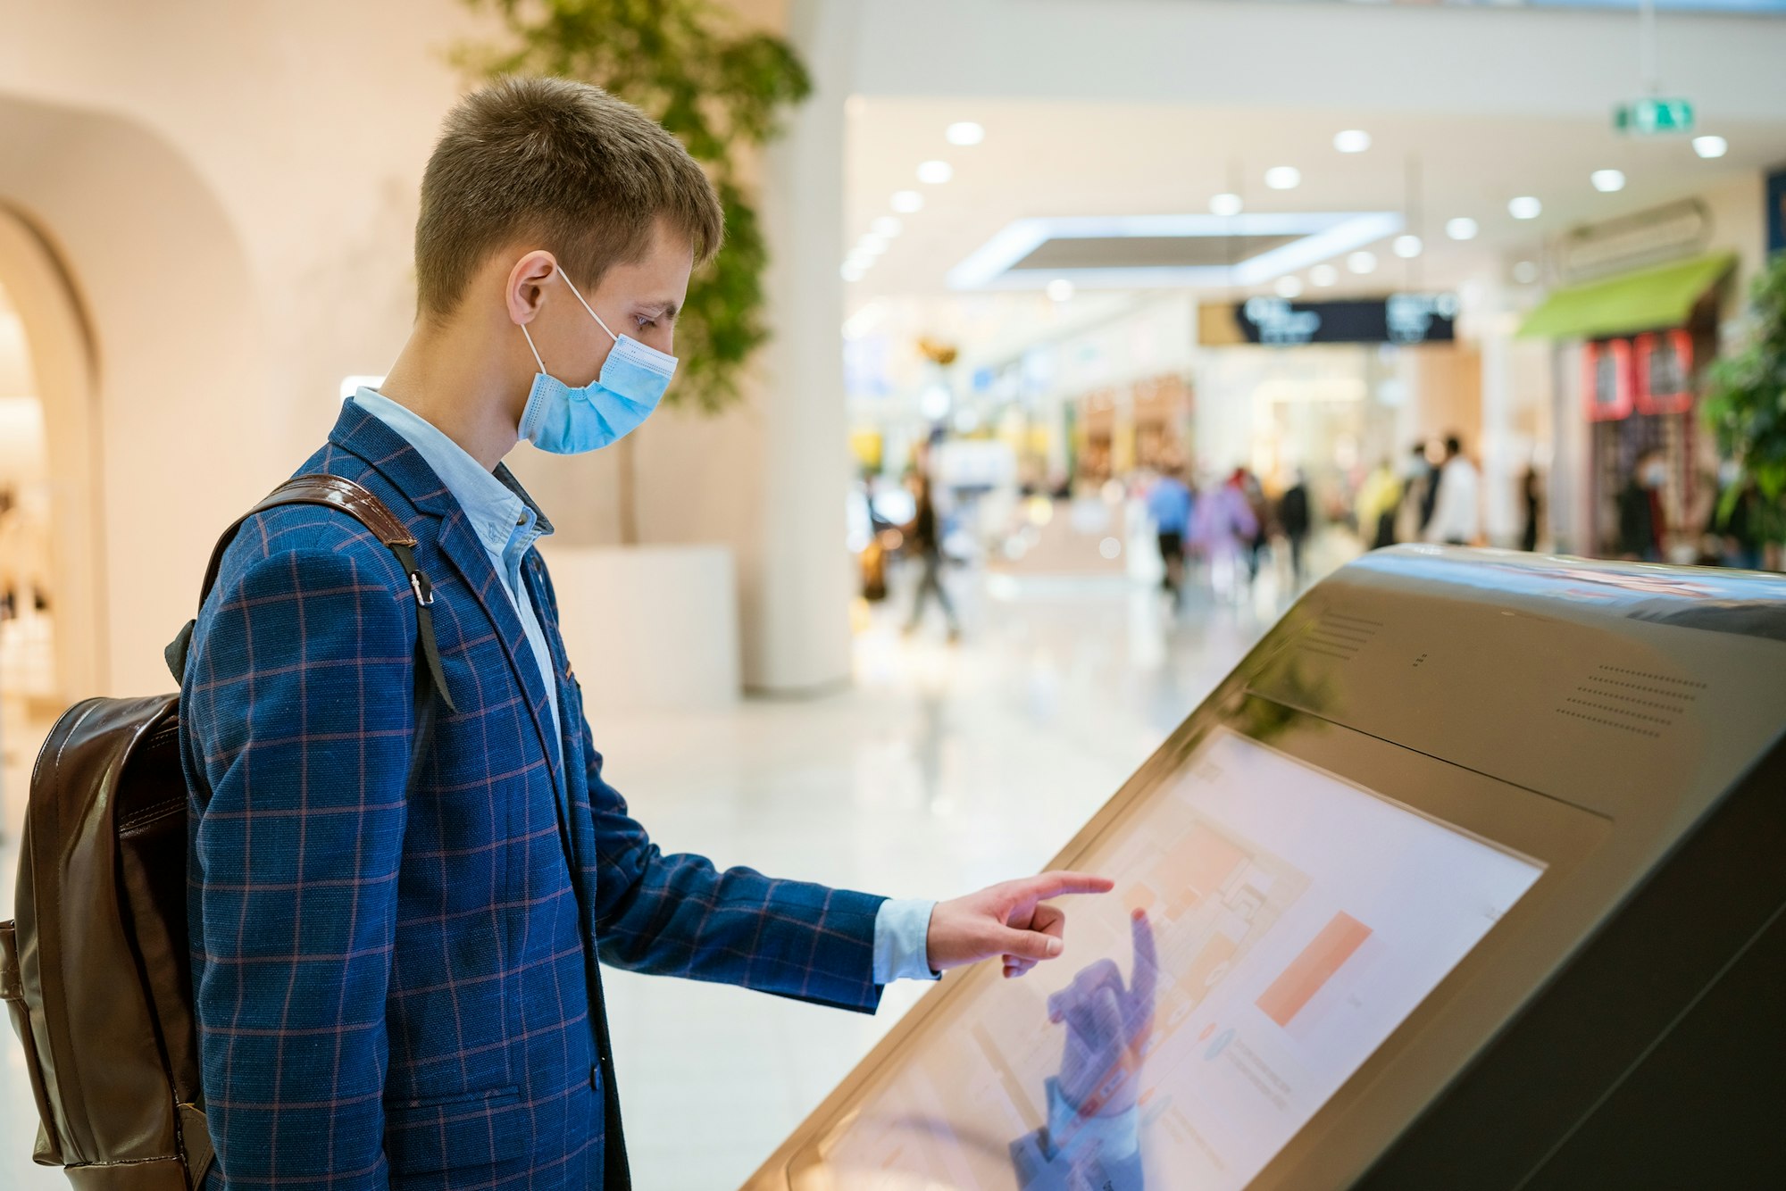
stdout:
{"type": "Polygon", "coordinates": [[[1245,1187],[1541,873],[1227,730],[1073,862],[1118,884],[1064,955],[975,973],[797,1186],[1245,1187]]]}

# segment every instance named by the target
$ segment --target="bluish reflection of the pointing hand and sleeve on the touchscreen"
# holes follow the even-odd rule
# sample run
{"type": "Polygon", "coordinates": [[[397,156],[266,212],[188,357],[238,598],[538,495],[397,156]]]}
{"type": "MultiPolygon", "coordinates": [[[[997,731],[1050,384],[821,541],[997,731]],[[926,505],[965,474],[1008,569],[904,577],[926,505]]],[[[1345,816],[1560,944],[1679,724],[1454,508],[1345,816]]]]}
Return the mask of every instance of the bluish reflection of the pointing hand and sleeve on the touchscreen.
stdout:
{"type": "Polygon", "coordinates": [[[1131,927],[1127,986],[1116,961],[1100,959],[1048,998],[1048,1020],[1064,1027],[1061,1073],[1047,1084],[1048,1127],[1011,1145],[1022,1191],[1141,1191],[1136,1102],[1159,957],[1147,912],[1134,911],[1131,927]]]}

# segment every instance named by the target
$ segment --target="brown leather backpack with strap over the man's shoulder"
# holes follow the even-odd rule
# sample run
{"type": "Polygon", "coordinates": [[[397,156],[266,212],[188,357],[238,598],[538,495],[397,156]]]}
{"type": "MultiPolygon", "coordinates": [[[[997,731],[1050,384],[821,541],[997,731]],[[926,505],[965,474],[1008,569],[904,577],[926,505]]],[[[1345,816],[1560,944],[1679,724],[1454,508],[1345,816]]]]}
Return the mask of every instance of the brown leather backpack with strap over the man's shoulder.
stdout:
{"type": "MultiPolygon", "coordinates": [[[[336,475],[280,484],[223,532],[200,604],[241,523],[286,504],[354,516],[409,575],[427,662],[416,666],[420,750],[436,693],[452,707],[434,596],[416,568],[416,539],[364,487],[336,475]]],[[[175,680],[191,634],[188,621],[168,646],[175,680]]],[[[214,1157],[198,1082],[186,846],[179,695],[70,707],[30,777],[16,918],[0,923],[0,1000],[38,1102],[32,1159],[64,1168],[77,1187],[196,1191],[214,1157]]]]}

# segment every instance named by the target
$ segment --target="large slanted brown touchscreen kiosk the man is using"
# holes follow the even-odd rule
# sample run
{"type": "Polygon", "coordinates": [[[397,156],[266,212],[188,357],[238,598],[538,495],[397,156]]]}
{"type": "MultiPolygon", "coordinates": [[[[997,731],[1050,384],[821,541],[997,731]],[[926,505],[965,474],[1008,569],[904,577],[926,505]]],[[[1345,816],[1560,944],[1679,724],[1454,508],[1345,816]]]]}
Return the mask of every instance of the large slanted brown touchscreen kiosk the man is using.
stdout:
{"type": "Polygon", "coordinates": [[[747,1191],[1786,1179],[1786,579],[1379,550],[747,1191]]]}

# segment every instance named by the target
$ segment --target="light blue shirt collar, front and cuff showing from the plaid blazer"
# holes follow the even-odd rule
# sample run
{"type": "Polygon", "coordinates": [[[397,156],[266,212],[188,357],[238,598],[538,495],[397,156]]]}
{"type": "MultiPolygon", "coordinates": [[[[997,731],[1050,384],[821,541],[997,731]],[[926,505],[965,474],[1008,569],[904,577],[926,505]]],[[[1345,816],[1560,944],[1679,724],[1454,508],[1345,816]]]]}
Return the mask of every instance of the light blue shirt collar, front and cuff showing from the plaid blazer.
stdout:
{"type": "MultiPolygon", "coordinates": [[[[527,634],[527,645],[539,666],[539,680],[547,687],[547,702],[552,707],[552,734],[561,741],[559,755],[563,755],[552,652],[547,648],[547,634],[534,614],[534,602],[520,598],[522,559],[539,537],[552,532],[550,523],[541,521],[532,505],[498,480],[495,471],[407,405],[398,405],[382,393],[366,387],[354,393],[352,400],[414,446],[416,454],[427,461],[446,491],[459,502],[459,507],[464,509],[472,530],[489,552],[489,562],[497,568],[497,577],[502,580],[502,589],[509,596],[514,614],[522,618],[522,630],[527,634]]],[[[563,789],[559,789],[559,798],[564,798],[563,789]]],[[[929,961],[932,909],[936,909],[936,902],[925,898],[898,898],[880,904],[880,911],[875,914],[875,984],[938,979],[931,971],[929,961]]]]}

